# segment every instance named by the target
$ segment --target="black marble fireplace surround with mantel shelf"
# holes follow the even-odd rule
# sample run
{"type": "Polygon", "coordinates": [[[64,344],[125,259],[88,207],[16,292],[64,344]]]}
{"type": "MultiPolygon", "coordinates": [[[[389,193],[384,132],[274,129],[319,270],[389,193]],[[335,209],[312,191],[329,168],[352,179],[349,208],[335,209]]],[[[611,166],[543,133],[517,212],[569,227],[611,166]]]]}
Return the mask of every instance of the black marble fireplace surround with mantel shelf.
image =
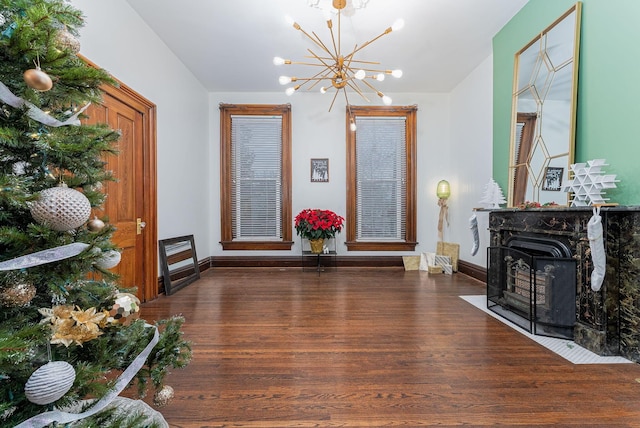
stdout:
{"type": "MultiPolygon", "coordinates": [[[[554,308],[554,311],[563,314],[573,310],[574,316],[547,316],[546,306],[539,310],[535,304],[529,312],[524,306],[520,308],[519,315],[525,318],[530,315],[534,321],[538,320],[536,316],[540,314],[546,316],[540,326],[534,324],[536,333],[545,334],[548,321],[551,320],[552,325],[557,324],[553,328],[560,329],[552,330],[560,332],[550,334],[552,336],[570,336],[577,344],[598,355],[620,355],[640,362],[640,207],[602,207],[600,215],[607,268],[602,287],[597,292],[591,289],[593,264],[587,238],[587,224],[592,215],[591,207],[491,211],[487,296],[496,296],[497,289],[507,289],[505,258],[511,257],[508,260],[512,260],[515,255],[517,261],[522,253],[525,263],[532,266],[531,280],[536,281],[530,285],[530,289],[534,290],[530,296],[535,296],[531,300],[534,303],[546,303],[542,299],[552,297],[544,297],[535,291],[538,288],[545,290],[545,283],[536,278],[543,275],[545,266],[553,266],[548,269],[557,274],[557,263],[562,259],[573,260],[575,262],[571,264],[571,270],[575,272],[568,276],[565,273],[561,277],[556,275],[550,283],[550,296],[553,296],[554,287],[575,291],[569,300],[566,294],[560,300],[556,297],[556,306],[559,308],[554,308]],[[567,319],[575,320],[573,327],[563,326],[567,319]],[[536,327],[541,327],[542,332],[536,327]]],[[[514,269],[512,266],[512,273],[516,272],[514,269]]],[[[562,269],[566,270],[566,266],[562,269]]],[[[488,305],[494,305],[496,300],[488,301],[488,305]]],[[[505,307],[508,309],[509,305],[505,307]]]]}

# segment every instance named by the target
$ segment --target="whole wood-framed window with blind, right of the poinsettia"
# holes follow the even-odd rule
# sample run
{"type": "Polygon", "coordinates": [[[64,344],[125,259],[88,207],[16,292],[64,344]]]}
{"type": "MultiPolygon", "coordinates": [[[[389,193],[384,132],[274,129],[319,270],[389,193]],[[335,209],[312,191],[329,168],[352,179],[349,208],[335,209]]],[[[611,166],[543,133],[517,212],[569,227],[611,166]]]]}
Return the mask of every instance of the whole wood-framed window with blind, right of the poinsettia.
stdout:
{"type": "Polygon", "coordinates": [[[416,246],[417,107],[347,111],[347,248],[404,251],[416,246]],[[347,127],[348,129],[348,127],[347,127]]]}

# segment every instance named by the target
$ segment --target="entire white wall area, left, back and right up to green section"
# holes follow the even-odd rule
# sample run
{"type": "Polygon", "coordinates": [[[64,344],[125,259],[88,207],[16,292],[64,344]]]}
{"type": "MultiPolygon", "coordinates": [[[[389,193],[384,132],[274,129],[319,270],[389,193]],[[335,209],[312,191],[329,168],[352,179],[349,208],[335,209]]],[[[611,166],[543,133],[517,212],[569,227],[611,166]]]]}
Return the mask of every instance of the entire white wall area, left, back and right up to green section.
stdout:
{"type": "MultiPolygon", "coordinates": [[[[296,245],[288,252],[222,251],[218,109],[221,102],[291,103],[293,213],[319,207],[346,214],[344,103],[337,101],[329,113],[329,98],[315,92],[296,93],[292,97],[284,93],[207,94],[124,0],[72,0],[72,3],[86,16],[81,53],[157,105],[160,239],[193,233],[199,258],[299,254],[297,237],[296,245]],[[117,30],[113,22],[118,23],[117,30]],[[316,157],[329,158],[328,183],[309,180],[309,159],[316,157]]],[[[438,181],[447,179],[452,196],[450,226],[444,239],[461,244],[462,260],[484,266],[487,214],[478,214],[482,247],[474,257],[469,253],[472,240],[468,220],[491,178],[491,58],[450,94],[390,95],[394,104],[418,106],[419,245],[412,254],[435,250],[439,211],[435,189],[438,181]]],[[[350,96],[352,103],[366,104],[357,99],[357,95],[350,96]]],[[[344,233],[338,237],[338,252],[342,255],[405,254],[347,253],[344,238],[344,233]]]]}

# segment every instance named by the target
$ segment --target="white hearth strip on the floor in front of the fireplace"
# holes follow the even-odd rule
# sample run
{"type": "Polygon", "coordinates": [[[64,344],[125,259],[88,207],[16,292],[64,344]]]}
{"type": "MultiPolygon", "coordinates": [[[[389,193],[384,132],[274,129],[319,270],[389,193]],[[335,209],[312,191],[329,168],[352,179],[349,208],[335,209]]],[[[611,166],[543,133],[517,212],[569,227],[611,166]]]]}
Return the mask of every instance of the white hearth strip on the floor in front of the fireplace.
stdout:
{"type": "Polygon", "coordinates": [[[539,343],[550,351],[555,352],[562,358],[572,362],[573,364],[623,364],[631,363],[623,357],[601,357],[588,349],[577,345],[575,342],[567,339],[556,339],[554,337],[537,336],[520,328],[519,326],[509,322],[509,320],[487,309],[487,296],[460,296],[466,302],[472,304],[481,311],[491,315],[495,319],[501,321],[505,325],[513,328],[519,333],[524,334],[529,339],[539,343]]]}

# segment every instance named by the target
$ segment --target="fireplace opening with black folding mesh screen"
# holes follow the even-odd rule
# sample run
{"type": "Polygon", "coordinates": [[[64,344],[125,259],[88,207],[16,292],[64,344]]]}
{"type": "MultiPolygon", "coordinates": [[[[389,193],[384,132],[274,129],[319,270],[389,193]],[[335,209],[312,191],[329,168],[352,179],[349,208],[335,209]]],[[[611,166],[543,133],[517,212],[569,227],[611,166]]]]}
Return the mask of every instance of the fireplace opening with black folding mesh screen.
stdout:
{"type": "Polygon", "coordinates": [[[533,334],[573,339],[576,263],[562,241],[515,234],[490,247],[487,307],[533,334]]]}

